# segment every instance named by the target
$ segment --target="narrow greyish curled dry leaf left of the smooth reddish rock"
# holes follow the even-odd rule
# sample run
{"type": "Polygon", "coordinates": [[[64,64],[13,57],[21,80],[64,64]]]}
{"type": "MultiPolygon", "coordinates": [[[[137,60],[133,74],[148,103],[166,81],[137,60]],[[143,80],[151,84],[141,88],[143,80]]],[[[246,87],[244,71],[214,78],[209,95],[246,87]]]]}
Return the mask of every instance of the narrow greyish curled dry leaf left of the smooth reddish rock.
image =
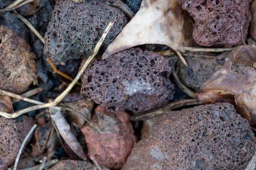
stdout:
{"type": "Polygon", "coordinates": [[[67,120],[61,114],[61,111],[56,109],[50,109],[51,117],[55,122],[55,125],[60,133],[61,137],[64,139],[66,144],[70,147],[70,149],[83,160],[87,160],[87,156],[84,153],[83,148],[79,144],[77,138],[71,132],[70,125],[67,123],[67,120]]]}

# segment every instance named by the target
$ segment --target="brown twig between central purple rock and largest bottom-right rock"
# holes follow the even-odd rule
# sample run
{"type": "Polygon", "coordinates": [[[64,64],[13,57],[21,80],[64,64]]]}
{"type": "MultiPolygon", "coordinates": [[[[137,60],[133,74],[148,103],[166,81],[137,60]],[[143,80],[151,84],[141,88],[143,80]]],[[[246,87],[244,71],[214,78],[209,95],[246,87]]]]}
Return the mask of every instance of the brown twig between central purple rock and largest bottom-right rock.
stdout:
{"type": "Polygon", "coordinates": [[[172,110],[172,109],[176,109],[176,108],[184,107],[184,106],[199,105],[199,104],[202,104],[202,102],[199,99],[183,99],[180,101],[174,101],[172,103],[167,104],[163,108],[154,109],[149,112],[145,112],[141,115],[131,116],[131,121],[144,121],[149,118],[153,118],[157,115],[161,115],[162,113],[164,113],[168,110],[172,110]]]}

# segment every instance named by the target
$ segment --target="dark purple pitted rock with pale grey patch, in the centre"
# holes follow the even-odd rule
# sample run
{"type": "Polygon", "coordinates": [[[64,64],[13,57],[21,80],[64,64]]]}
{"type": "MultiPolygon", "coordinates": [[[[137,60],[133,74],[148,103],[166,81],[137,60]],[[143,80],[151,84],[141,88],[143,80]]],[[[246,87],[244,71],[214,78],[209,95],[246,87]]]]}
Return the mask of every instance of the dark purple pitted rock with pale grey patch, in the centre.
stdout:
{"type": "Polygon", "coordinates": [[[90,63],[81,92],[110,111],[148,111],[168,103],[174,86],[168,61],[154,52],[131,48],[90,63]]]}

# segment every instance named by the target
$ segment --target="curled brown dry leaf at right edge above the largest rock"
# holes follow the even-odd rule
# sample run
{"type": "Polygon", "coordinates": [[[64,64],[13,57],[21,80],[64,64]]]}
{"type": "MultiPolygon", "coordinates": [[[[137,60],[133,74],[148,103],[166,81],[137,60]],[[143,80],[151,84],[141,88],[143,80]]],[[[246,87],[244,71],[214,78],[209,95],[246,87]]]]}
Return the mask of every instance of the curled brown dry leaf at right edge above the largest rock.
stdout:
{"type": "Polygon", "coordinates": [[[204,104],[235,102],[239,114],[256,125],[256,70],[246,66],[244,74],[239,75],[231,70],[231,65],[231,59],[226,58],[224,66],[201,86],[197,96],[204,104]]]}

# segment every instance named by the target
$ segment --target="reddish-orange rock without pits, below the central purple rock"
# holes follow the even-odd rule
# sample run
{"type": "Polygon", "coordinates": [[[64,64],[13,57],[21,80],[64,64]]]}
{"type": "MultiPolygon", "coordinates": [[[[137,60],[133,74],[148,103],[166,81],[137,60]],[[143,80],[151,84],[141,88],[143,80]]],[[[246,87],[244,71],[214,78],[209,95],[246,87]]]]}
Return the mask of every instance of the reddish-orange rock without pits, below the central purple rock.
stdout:
{"type": "Polygon", "coordinates": [[[136,142],[134,130],[127,112],[117,114],[98,106],[91,124],[81,129],[88,148],[88,157],[93,156],[99,164],[110,169],[120,169],[136,142]],[[101,128],[102,133],[95,128],[101,128]]]}

